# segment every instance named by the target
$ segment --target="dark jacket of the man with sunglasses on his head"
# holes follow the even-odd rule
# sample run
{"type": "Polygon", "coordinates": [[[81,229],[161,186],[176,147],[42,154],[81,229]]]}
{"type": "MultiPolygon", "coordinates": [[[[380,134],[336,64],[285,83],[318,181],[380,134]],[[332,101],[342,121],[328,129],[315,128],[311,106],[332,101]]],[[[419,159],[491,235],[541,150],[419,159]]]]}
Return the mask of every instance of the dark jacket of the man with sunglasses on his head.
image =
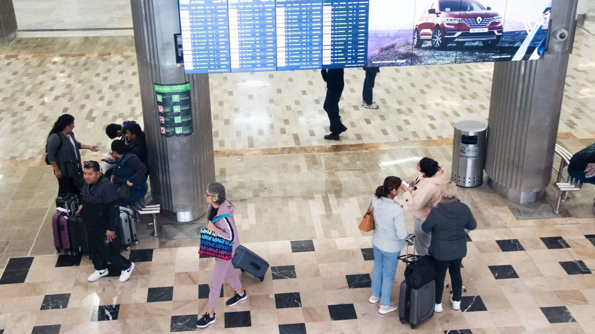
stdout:
{"type": "Polygon", "coordinates": [[[89,184],[85,182],[81,193],[83,209],[80,211],[80,216],[85,225],[115,231],[120,219],[118,192],[115,185],[107,178],[101,177],[90,191],[89,184]]]}

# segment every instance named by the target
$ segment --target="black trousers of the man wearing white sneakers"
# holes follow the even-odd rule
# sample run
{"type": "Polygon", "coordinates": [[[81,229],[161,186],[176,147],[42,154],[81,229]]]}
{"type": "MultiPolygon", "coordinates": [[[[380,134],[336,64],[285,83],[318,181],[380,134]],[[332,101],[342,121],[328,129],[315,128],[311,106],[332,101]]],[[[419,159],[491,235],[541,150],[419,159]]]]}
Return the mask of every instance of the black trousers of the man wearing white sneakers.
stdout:
{"type": "Polygon", "coordinates": [[[107,241],[105,237],[106,229],[103,227],[89,226],[87,230],[87,237],[89,238],[89,254],[93,261],[95,270],[104,270],[108,267],[108,262],[116,269],[126,270],[130,268],[130,260],[123,257],[118,250],[117,242],[120,235],[116,234],[116,238],[112,242],[107,241]]]}

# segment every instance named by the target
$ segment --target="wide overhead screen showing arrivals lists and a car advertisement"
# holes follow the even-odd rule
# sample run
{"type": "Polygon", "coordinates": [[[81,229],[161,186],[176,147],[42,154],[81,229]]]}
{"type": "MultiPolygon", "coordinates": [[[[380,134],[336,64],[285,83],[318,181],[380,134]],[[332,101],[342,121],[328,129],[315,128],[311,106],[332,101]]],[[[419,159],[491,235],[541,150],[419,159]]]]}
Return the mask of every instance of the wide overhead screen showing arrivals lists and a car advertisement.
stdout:
{"type": "Polygon", "coordinates": [[[551,0],[179,0],[184,71],[540,59],[551,0]]]}

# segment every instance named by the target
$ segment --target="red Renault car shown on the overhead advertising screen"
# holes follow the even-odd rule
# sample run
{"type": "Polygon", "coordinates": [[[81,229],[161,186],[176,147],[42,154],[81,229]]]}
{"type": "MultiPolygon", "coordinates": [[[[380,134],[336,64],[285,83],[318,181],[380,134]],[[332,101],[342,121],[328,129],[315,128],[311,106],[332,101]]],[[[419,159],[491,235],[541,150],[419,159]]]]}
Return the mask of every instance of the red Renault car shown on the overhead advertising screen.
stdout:
{"type": "Polygon", "coordinates": [[[462,46],[481,41],[484,47],[493,48],[502,37],[503,21],[502,15],[476,0],[437,0],[415,23],[413,44],[421,48],[424,40],[430,40],[434,48],[444,49],[452,42],[462,46]]]}

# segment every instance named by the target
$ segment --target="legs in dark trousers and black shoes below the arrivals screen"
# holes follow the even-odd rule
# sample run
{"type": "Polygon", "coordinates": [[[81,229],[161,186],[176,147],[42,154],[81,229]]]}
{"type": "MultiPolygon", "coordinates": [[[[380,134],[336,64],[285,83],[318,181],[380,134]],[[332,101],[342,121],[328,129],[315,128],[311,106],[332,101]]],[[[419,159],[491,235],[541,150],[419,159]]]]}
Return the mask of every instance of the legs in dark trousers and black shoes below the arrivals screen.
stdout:
{"type": "Polygon", "coordinates": [[[339,134],[345,132],[347,127],[341,122],[339,116],[339,100],[345,87],[343,80],[343,68],[331,68],[321,70],[322,78],[327,83],[327,96],[324,99],[324,111],[327,112],[328,120],[331,123],[330,134],[324,136],[327,140],[339,140],[339,134]]]}

